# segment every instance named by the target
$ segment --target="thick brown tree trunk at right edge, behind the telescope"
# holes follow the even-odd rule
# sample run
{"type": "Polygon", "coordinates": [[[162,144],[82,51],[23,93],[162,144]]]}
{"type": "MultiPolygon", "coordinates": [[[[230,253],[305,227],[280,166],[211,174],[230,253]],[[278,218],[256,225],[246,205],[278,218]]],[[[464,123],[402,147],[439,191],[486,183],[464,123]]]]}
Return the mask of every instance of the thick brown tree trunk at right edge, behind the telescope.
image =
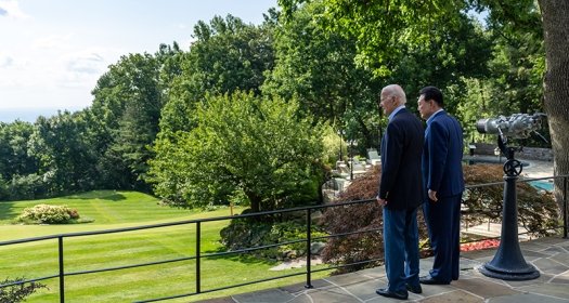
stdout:
{"type": "MultiPolygon", "coordinates": [[[[569,1],[539,3],[545,39],[544,108],[552,135],[554,172],[569,174],[569,1]]],[[[560,203],[562,180],[555,182],[555,188],[560,203]]]]}

